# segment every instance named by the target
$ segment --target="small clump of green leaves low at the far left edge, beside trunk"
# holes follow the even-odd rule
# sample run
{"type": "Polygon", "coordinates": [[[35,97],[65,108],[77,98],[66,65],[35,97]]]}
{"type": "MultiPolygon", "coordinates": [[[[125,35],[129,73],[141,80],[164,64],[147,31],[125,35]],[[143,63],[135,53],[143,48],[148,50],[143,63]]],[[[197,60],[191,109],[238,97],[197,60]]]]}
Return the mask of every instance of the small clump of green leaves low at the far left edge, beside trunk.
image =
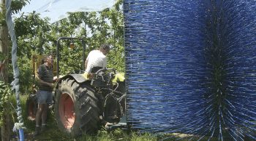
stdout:
{"type": "Polygon", "coordinates": [[[3,123],[3,116],[4,114],[8,114],[12,111],[10,107],[10,97],[12,96],[12,91],[10,86],[4,84],[3,81],[0,81],[0,126],[3,123]]]}

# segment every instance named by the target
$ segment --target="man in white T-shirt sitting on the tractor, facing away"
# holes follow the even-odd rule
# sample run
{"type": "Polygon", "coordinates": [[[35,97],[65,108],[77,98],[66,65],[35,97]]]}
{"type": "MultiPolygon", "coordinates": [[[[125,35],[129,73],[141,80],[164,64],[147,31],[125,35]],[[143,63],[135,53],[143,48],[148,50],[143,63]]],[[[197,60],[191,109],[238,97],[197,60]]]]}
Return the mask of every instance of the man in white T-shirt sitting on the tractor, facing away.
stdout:
{"type": "Polygon", "coordinates": [[[96,73],[99,68],[106,68],[107,57],[106,55],[110,51],[110,46],[108,44],[102,44],[99,49],[92,50],[85,62],[85,69],[88,73],[96,73]],[[97,70],[94,70],[95,68],[97,70]]]}

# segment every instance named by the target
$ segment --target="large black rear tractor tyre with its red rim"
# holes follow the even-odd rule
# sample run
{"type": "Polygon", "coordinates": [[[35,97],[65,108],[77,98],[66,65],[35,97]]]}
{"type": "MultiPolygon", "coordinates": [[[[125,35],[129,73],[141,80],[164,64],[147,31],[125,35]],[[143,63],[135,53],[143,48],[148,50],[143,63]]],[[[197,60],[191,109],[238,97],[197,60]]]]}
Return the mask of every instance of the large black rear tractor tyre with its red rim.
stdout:
{"type": "Polygon", "coordinates": [[[66,78],[56,88],[56,120],[61,131],[72,136],[94,134],[99,128],[99,100],[88,82],[66,78]]]}

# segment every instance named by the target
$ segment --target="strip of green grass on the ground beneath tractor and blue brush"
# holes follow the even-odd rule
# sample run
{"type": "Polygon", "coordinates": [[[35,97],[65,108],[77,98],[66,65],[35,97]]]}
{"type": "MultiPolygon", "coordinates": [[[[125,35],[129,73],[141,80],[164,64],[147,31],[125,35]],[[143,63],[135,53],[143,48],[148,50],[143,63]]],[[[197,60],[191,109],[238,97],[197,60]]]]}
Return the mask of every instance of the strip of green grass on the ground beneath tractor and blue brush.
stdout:
{"type": "MultiPolygon", "coordinates": [[[[187,134],[162,134],[155,136],[154,134],[149,134],[149,133],[144,133],[144,134],[139,134],[138,132],[132,131],[132,132],[127,132],[123,131],[121,129],[116,129],[111,132],[107,132],[105,129],[99,130],[99,132],[96,135],[88,135],[88,134],[83,134],[80,137],[71,137],[69,134],[64,134],[58,129],[58,126],[56,124],[56,119],[54,116],[53,112],[48,113],[48,121],[47,125],[48,128],[45,132],[42,134],[39,134],[37,137],[33,137],[33,132],[35,129],[35,121],[30,121],[26,115],[26,99],[27,95],[21,95],[20,96],[20,101],[21,101],[21,107],[23,110],[23,122],[26,126],[26,129],[24,129],[24,134],[25,134],[25,140],[67,140],[67,141],[157,141],[157,140],[163,140],[165,141],[173,141],[179,139],[180,141],[185,141],[185,140],[198,140],[199,137],[190,137],[187,134]]],[[[11,100],[12,103],[15,102],[15,97],[12,98],[11,100]]],[[[16,106],[16,105],[14,105],[16,106]]],[[[16,113],[15,113],[16,114],[16,113]]],[[[16,116],[14,114],[14,116],[16,116]]],[[[17,122],[17,116],[14,117],[15,122],[17,122]]],[[[17,140],[17,135],[18,134],[13,134],[12,140],[17,140]],[[16,137],[16,138],[15,138],[16,137]]],[[[203,140],[207,140],[206,139],[203,140]]]]}

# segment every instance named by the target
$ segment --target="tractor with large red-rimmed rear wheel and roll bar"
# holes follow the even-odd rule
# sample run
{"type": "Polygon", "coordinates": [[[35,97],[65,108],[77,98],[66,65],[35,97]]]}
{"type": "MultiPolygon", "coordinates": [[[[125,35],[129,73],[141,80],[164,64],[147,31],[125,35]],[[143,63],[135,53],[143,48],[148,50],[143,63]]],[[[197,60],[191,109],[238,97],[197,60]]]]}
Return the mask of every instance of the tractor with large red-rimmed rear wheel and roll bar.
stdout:
{"type": "MultiPolygon", "coordinates": [[[[123,73],[116,73],[113,68],[93,68],[91,73],[74,71],[59,76],[59,42],[61,40],[79,40],[83,44],[83,64],[85,61],[85,41],[80,38],[61,37],[57,41],[56,63],[53,74],[58,81],[53,94],[54,113],[59,129],[67,134],[94,134],[100,126],[110,123],[108,129],[115,129],[125,117],[126,94],[123,73]]],[[[33,58],[33,57],[32,57],[33,58]]],[[[39,58],[39,57],[38,57],[39,58]]],[[[37,58],[37,60],[38,60],[37,58]]],[[[32,61],[33,62],[33,61],[32,61]]],[[[34,63],[38,64],[38,61],[34,63]]],[[[33,65],[34,70],[38,65],[33,65]]],[[[27,109],[29,118],[34,118],[37,98],[29,97],[27,109]]],[[[124,119],[125,120],[125,119],[124,119]]]]}

